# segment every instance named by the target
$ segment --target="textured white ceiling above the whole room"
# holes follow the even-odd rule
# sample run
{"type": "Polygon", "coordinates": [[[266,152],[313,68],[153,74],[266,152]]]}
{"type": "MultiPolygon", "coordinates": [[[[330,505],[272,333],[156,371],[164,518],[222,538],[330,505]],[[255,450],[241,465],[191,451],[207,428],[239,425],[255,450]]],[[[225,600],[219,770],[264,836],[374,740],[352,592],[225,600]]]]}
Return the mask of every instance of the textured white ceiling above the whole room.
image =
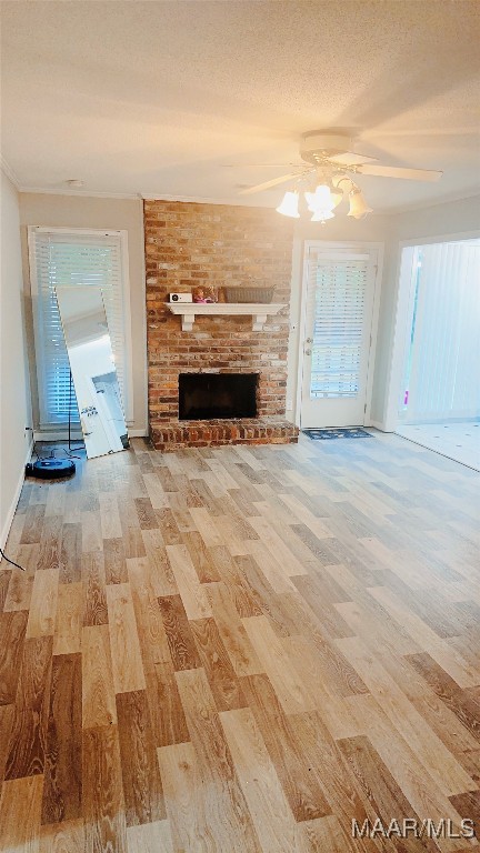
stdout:
{"type": "Polygon", "coordinates": [[[1,2],[1,150],[22,189],[273,205],[251,185],[316,128],[439,183],[359,179],[377,210],[480,191],[477,0],[1,2]],[[226,168],[237,163],[234,168],[226,168]]]}

